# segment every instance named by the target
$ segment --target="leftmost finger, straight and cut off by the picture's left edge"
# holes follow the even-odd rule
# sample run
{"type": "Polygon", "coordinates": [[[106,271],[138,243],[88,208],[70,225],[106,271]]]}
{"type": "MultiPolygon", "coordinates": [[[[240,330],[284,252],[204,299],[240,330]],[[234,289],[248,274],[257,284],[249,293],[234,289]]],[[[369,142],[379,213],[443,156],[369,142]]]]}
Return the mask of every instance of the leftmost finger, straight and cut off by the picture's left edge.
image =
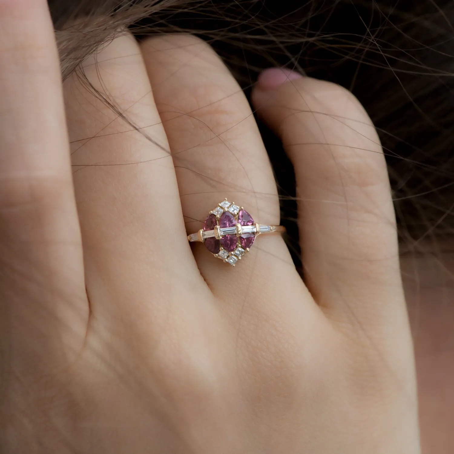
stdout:
{"type": "Polygon", "coordinates": [[[80,347],[82,245],[47,2],[0,2],[0,30],[0,301],[10,325],[2,331],[35,364],[51,346],[80,347]]]}

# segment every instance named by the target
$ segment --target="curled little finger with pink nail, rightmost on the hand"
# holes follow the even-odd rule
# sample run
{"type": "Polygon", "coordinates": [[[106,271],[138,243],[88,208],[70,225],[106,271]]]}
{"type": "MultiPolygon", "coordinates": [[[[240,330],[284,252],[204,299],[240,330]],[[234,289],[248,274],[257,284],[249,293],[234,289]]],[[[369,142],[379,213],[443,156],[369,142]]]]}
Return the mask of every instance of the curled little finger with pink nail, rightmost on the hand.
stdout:
{"type": "Polygon", "coordinates": [[[276,71],[262,74],[252,99],[295,166],[309,289],[335,316],[404,316],[390,186],[370,119],[340,86],[292,73],[276,87],[276,71]]]}

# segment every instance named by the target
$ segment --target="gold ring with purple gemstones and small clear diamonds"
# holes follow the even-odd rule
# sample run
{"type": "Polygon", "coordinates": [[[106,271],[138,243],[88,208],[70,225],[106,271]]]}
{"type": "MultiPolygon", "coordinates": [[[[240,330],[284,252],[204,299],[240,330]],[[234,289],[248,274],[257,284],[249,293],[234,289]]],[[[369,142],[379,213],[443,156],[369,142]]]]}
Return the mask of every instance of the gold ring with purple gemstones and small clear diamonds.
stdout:
{"type": "Polygon", "coordinates": [[[203,228],[188,236],[188,241],[202,242],[214,257],[235,266],[235,263],[249,252],[258,235],[283,232],[283,226],[267,226],[254,222],[243,207],[224,199],[208,213],[203,228]]]}

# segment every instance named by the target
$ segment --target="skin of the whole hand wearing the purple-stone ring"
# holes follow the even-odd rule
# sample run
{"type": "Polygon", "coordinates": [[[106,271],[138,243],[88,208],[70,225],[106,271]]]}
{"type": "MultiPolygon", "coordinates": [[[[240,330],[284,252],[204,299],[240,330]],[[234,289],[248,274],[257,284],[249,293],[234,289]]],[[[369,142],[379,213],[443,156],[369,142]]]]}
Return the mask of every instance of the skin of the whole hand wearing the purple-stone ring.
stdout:
{"type": "Polygon", "coordinates": [[[296,173],[235,268],[186,235],[224,197],[279,223],[244,94],[199,39],[119,34],[62,86],[44,0],[0,0],[5,453],[419,453],[379,139],[346,90],[256,86],[296,173]],[[65,117],[66,113],[66,117],[65,117]]]}

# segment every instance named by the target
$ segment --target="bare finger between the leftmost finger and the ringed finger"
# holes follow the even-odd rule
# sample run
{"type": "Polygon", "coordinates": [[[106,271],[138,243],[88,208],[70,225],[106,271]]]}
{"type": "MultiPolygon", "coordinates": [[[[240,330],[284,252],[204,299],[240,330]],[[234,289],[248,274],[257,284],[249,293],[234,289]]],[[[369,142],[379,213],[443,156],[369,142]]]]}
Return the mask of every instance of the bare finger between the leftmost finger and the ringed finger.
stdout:
{"type": "Polygon", "coordinates": [[[64,84],[74,186],[94,311],[152,310],[169,286],[200,282],[167,138],[132,35],[64,84]],[[108,296],[108,297],[106,297],[108,296]]]}

